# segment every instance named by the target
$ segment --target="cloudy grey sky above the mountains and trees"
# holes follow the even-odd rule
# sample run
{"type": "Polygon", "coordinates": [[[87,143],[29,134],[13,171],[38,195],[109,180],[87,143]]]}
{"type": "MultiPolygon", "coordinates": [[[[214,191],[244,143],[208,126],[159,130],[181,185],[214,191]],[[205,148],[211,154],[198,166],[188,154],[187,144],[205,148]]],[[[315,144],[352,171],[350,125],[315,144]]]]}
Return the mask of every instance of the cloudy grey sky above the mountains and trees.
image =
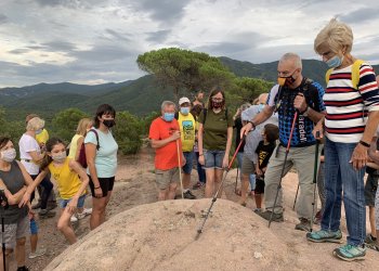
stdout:
{"type": "Polygon", "coordinates": [[[136,79],[138,55],[168,47],[321,60],[313,41],[332,17],[352,27],[352,54],[378,64],[377,0],[1,0],[0,88],[136,79]]]}

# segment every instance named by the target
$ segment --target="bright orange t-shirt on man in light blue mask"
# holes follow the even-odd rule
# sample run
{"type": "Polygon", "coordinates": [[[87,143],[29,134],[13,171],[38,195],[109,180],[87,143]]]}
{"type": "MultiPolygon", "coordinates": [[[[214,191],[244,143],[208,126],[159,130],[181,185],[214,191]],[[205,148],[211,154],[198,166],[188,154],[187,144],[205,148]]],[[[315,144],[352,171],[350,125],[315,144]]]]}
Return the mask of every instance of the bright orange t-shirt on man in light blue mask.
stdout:
{"type": "MultiPolygon", "coordinates": [[[[179,130],[177,119],[171,122],[165,121],[161,117],[153,120],[148,132],[148,138],[154,140],[164,140],[171,137],[174,130],[179,130]]],[[[155,149],[155,168],[168,170],[179,166],[177,142],[171,141],[165,146],[155,149]]],[[[179,153],[182,159],[182,142],[179,140],[179,153]]]]}

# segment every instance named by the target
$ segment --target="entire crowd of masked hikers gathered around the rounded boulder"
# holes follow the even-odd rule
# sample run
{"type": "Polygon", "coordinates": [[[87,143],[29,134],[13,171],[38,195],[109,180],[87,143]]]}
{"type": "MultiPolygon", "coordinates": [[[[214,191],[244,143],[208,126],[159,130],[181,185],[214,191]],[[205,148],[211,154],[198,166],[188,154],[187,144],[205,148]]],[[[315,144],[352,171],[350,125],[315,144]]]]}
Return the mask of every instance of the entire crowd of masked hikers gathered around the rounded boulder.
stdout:
{"type": "MultiPolygon", "coordinates": [[[[244,104],[234,116],[219,87],[210,91],[206,103],[202,92],[194,102],[181,98],[178,109],[177,103],[162,102],[161,116],[153,120],[148,134],[156,151],[158,199],[174,199],[179,180],[183,198],[195,199],[192,190],[199,188],[205,188],[206,197],[214,196],[215,191],[221,196],[224,169],[231,167],[233,130],[236,128],[241,172],[239,204],[246,206],[250,193],[256,199],[257,215],[270,221],[284,221],[280,177],[295,166],[300,186],[299,223],[295,228],[308,231],[306,238],[311,242],[341,243],[343,201],[348,242],[336,248],[334,255],[348,261],[364,259],[365,242],[368,237],[377,242],[375,230],[379,230],[377,192],[376,210],[373,204],[370,208],[371,224],[375,218],[376,224],[366,236],[364,194],[366,165],[371,163],[376,167],[379,164],[379,88],[373,67],[351,54],[352,46],[351,28],[336,20],[317,35],[314,49],[329,66],[325,90],[303,76],[298,54],[286,53],[277,66],[280,83],[269,94],[260,95],[257,104],[244,104]],[[322,149],[316,147],[318,142],[324,143],[322,156],[322,149]],[[194,163],[199,179],[191,186],[194,163]],[[317,186],[322,198],[318,231],[312,231],[315,167],[319,168],[317,186]]],[[[0,197],[4,201],[1,216],[5,224],[1,238],[5,243],[6,259],[16,250],[17,270],[28,270],[25,266],[28,235],[29,257],[44,253],[37,249],[38,225],[30,202],[35,189],[40,186],[39,217],[55,216],[49,208],[49,198],[54,194],[51,179],[56,183],[61,198],[57,229],[70,244],[77,241],[71,222],[86,215],[91,215],[91,230],[104,222],[117,167],[118,145],[112,133],[115,117],[116,111],[103,104],[93,120],[80,120],[68,156],[62,140],[48,139],[44,121],[37,115],[26,119],[26,132],[18,142],[19,162],[15,159],[12,139],[0,138],[0,194],[3,193],[0,197]],[[44,140],[39,141],[38,137],[44,140]],[[84,208],[88,185],[92,209],[84,208]]],[[[370,178],[377,180],[377,171],[370,173],[370,178]]],[[[373,192],[370,195],[373,203],[373,192]]],[[[376,247],[379,250],[379,245],[376,247]]]]}

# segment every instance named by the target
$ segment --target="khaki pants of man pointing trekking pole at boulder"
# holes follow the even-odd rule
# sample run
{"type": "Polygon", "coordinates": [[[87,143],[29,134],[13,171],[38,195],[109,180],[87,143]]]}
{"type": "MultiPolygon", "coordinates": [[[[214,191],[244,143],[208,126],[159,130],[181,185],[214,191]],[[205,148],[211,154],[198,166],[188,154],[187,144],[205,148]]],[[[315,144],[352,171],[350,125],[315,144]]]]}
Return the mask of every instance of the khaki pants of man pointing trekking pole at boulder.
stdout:
{"type": "MultiPolygon", "coordinates": [[[[322,147],[319,147],[321,153],[322,147]]],[[[312,203],[313,203],[313,173],[314,173],[314,156],[316,147],[303,146],[303,147],[290,147],[285,165],[284,176],[291,169],[292,166],[298,170],[300,192],[297,204],[297,212],[299,218],[311,219],[312,217],[312,203]]],[[[319,154],[318,154],[319,155],[319,154]]],[[[272,210],[276,196],[277,186],[280,181],[282,168],[286,156],[286,147],[283,145],[276,146],[273,155],[270,158],[267,170],[264,175],[264,205],[266,209],[272,210]],[[278,150],[277,150],[278,149],[278,150]]],[[[319,164],[319,159],[318,159],[319,164]]],[[[318,168],[318,165],[317,165],[318,168]]],[[[293,180],[295,181],[295,180],[293,180]]],[[[315,202],[315,206],[316,202],[315,202]]],[[[279,191],[276,202],[275,214],[283,212],[283,192],[279,191]]]]}

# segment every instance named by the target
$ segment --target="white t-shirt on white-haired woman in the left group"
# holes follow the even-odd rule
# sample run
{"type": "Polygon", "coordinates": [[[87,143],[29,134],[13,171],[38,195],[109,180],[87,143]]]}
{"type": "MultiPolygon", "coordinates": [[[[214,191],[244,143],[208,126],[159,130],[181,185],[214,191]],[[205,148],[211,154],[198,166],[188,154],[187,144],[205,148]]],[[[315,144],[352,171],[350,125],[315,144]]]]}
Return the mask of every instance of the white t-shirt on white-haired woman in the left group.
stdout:
{"type": "Polygon", "coordinates": [[[21,163],[24,165],[26,171],[28,171],[29,175],[38,175],[39,166],[32,162],[29,154],[30,152],[37,152],[38,154],[41,153],[37,140],[29,134],[24,133],[19,139],[18,146],[21,163]]]}

